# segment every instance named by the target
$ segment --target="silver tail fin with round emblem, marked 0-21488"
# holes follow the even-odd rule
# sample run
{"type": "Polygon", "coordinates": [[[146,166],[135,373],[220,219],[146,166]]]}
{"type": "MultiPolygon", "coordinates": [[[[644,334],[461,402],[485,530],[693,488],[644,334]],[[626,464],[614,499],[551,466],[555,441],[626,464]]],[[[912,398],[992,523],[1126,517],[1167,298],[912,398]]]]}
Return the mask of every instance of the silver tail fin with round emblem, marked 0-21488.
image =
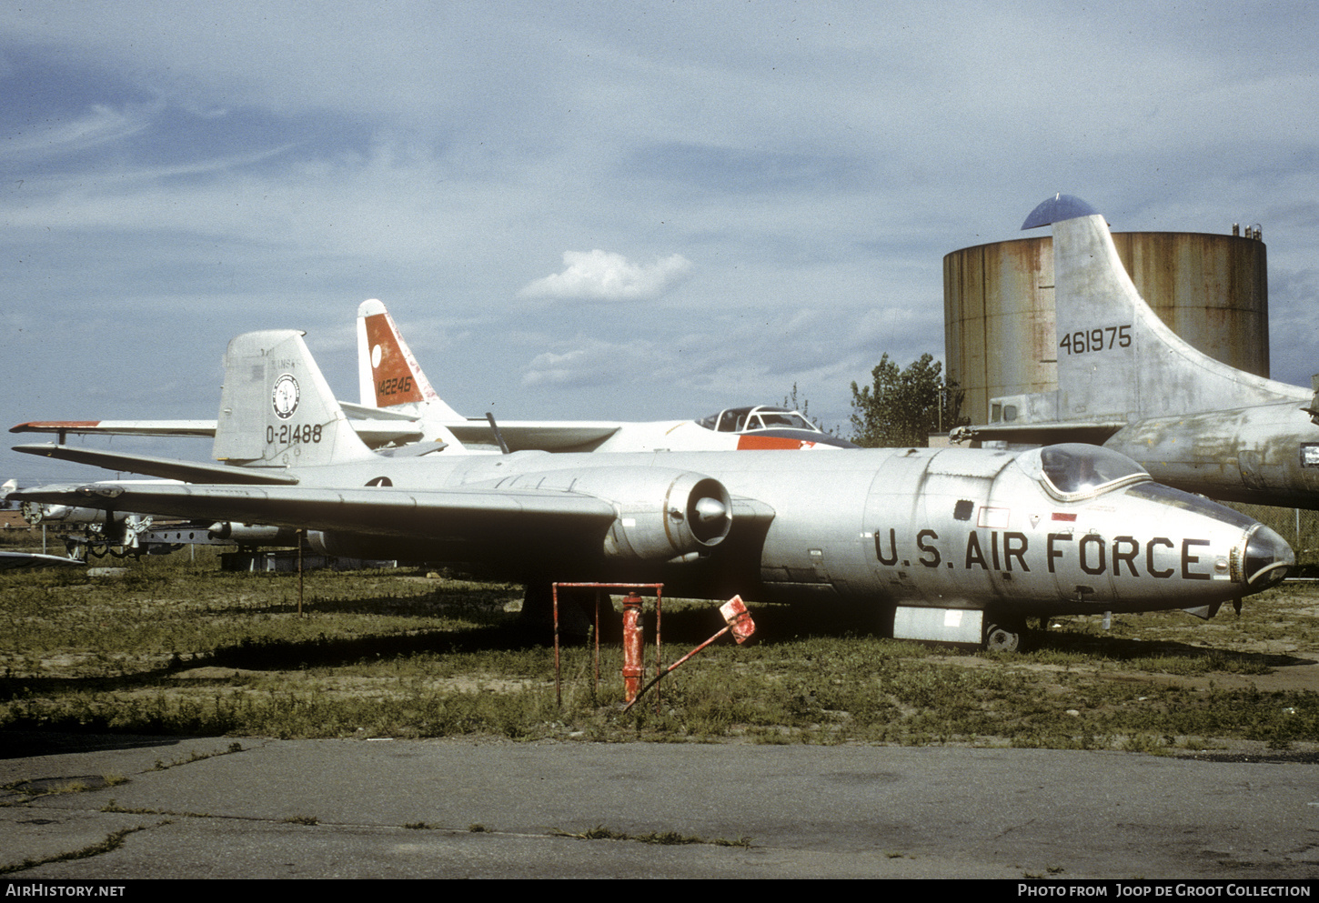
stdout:
{"type": "Polygon", "coordinates": [[[224,352],[224,390],[215,424],[216,460],[255,467],[315,467],[365,460],[302,334],[247,332],[224,352]]]}

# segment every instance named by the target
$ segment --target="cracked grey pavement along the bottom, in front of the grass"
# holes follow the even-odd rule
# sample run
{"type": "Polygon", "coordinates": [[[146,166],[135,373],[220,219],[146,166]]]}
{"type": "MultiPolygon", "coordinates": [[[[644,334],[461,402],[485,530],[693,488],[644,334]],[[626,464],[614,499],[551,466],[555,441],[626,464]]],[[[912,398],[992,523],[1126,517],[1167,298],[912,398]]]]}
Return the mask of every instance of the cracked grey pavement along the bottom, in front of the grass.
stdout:
{"type": "Polygon", "coordinates": [[[1319,877],[1319,771],[1304,762],[460,740],[34,746],[59,740],[0,746],[11,881],[1319,877]],[[687,842],[563,836],[596,827],[687,842]]]}

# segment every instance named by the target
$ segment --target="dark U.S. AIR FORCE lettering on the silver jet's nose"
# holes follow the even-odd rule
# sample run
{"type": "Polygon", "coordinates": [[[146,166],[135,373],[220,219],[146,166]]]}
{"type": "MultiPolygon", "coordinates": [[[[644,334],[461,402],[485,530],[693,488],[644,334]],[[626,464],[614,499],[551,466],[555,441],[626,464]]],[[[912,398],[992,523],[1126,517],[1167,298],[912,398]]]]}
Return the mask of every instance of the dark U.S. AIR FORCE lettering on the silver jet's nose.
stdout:
{"type": "MultiPolygon", "coordinates": [[[[1030,537],[1012,530],[972,530],[967,534],[964,552],[947,555],[935,543],[939,534],[935,530],[921,530],[915,534],[914,551],[904,548],[900,555],[897,530],[877,530],[874,533],[874,554],[880,564],[892,567],[902,558],[902,567],[915,564],[927,568],[950,567],[959,563],[963,568],[983,568],[985,571],[1030,571],[1028,560],[1037,567],[1043,566],[1050,573],[1059,564],[1075,560],[1082,571],[1091,575],[1112,573],[1133,577],[1150,576],[1167,579],[1181,569],[1183,580],[1211,580],[1212,562],[1198,555],[1208,539],[1182,539],[1174,542],[1167,537],[1154,537],[1144,543],[1136,537],[1113,537],[1105,539],[1096,534],[1074,537],[1070,533],[1050,533],[1031,548],[1030,537]],[[1041,550],[1041,546],[1043,547],[1041,550]],[[946,556],[947,555],[947,556],[946,556]],[[1177,566],[1181,566],[1178,568],[1177,566]]],[[[904,547],[906,542],[901,543],[904,547]]]]}

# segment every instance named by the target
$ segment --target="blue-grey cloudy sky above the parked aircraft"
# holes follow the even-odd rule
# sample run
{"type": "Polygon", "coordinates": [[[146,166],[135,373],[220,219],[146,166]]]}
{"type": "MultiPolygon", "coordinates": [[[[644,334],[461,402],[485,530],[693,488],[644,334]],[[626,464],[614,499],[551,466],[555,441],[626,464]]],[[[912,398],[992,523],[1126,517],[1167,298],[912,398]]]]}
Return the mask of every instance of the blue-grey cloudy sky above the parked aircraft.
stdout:
{"type": "Polygon", "coordinates": [[[1308,385],[1315,46],[1312,3],[3,4],[0,424],[214,418],[257,328],[355,399],[367,298],[468,415],[843,423],[1055,191],[1260,223],[1308,385]]]}

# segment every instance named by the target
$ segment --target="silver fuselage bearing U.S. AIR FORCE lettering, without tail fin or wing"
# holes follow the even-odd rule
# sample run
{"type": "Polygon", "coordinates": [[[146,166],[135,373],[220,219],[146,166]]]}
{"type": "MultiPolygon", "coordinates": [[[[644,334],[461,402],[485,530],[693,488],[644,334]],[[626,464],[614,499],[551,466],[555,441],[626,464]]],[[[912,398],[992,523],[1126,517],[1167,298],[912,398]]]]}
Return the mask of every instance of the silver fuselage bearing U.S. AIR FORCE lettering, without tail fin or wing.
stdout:
{"type": "MultiPolygon", "coordinates": [[[[611,455],[607,465],[600,456],[524,452],[311,468],[302,485],[384,482],[396,493],[567,485],[572,475],[601,468],[617,468],[624,480],[648,471],[714,477],[733,500],[732,529],[721,542],[687,554],[677,547],[649,556],[611,554],[609,535],[625,534],[629,521],[644,517],[632,511],[629,518],[625,510],[590,543],[537,527],[474,539],[470,519],[452,540],[434,523],[404,519],[397,537],[332,526],[323,535],[327,550],[339,554],[475,560],[520,579],[662,579],[670,592],[698,597],[737,592],[761,601],[997,608],[1022,617],[1138,612],[1240,598],[1260,588],[1246,583],[1254,571],[1290,560],[1286,543],[1266,527],[1142,476],[1059,498],[1042,480],[1039,455],[867,450],[794,456],[789,467],[780,456],[728,452],[611,455]],[[743,502],[751,515],[739,514],[739,500],[754,500],[743,502]],[[1268,560],[1248,563],[1261,554],[1268,560]]],[[[662,500],[654,508],[661,519],[671,514],[662,500]]],[[[290,522],[305,519],[290,515],[290,522]]],[[[612,548],[624,544],[616,539],[612,548]]]]}

